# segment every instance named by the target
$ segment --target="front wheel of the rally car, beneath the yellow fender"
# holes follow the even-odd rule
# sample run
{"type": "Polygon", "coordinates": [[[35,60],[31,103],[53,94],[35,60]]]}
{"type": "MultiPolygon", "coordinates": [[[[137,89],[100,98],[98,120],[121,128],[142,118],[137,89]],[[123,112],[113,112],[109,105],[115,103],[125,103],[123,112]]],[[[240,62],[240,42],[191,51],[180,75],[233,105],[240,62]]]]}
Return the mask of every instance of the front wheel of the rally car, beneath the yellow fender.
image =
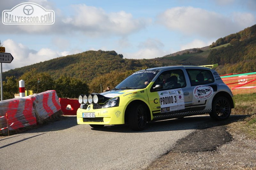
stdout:
{"type": "Polygon", "coordinates": [[[134,131],[144,130],[147,124],[146,109],[142,104],[133,105],[129,110],[129,126],[134,131]]]}

